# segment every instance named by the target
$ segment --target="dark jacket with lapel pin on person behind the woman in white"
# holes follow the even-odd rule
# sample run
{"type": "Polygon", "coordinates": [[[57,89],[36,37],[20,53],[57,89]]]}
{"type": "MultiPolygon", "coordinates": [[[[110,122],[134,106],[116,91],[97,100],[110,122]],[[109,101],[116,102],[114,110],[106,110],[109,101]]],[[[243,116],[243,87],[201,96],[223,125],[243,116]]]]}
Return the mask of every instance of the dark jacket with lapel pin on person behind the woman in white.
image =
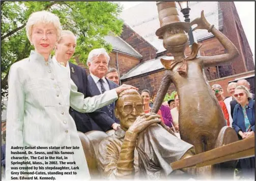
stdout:
{"type": "MultiPolygon", "coordinates": [[[[78,92],[83,93],[84,97],[93,97],[94,94],[91,92],[91,85],[88,81],[86,70],[70,62],[69,67],[70,77],[77,86],[78,92]]],[[[83,133],[91,130],[107,131],[111,129],[111,125],[115,123],[115,121],[112,120],[104,110],[102,111],[102,109],[100,109],[93,113],[79,113],[70,107],[69,114],[75,120],[77,131],[83,133]]]]}

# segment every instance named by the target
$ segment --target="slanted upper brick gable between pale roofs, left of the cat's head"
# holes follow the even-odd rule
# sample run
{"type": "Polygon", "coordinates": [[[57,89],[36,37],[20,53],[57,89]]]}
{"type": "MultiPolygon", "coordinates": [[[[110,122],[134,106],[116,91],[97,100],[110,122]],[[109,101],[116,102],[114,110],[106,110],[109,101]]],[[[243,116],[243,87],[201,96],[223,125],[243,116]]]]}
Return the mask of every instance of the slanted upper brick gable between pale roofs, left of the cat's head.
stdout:
{"type": "Polygon", "coordinates": [[[120,37],[143,56],[141,61],[151,60],[156,57],[157,49],[149,44],[143,37],[140,37],[140,35],[133,31],[127,24],[123,25],[123,32],[120,37]]]}

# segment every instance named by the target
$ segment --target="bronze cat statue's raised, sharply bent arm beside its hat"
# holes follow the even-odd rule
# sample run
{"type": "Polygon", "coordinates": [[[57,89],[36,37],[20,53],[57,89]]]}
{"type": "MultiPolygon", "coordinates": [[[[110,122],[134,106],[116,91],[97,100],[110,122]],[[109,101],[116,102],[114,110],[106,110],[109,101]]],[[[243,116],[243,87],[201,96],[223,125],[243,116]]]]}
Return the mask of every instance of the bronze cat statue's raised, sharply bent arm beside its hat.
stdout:
{"type": "Polygon", "coordinates": [[[213,66],[213,65],[218,65],[222,64],[227,61],[234,60],[234,58],[239,55],[239,52],[235,45],[226,38],[226,36],[221,33],[219,30],[217,30],[215,27],[212,27],[211,32],[213,35],[219,40],[221,45],[225,48],[227,53],[222,54],[222,55],[214,55],[214,56],[205,56],[205,57],[200,57],[203,60],[204,66],[213,66]]]}

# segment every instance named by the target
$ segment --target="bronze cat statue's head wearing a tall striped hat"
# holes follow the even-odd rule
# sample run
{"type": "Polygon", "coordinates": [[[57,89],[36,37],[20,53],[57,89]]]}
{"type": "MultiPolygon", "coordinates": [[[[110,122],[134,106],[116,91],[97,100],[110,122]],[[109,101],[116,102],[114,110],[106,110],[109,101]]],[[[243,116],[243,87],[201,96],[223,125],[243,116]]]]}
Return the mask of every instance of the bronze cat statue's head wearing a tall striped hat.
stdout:
{"type": "Polygon", "coordinates": [[[160,28],[156,35],[163,40],[164,48],[170,52],[184,52],[188,43],[190,23],[181,22],[176,2],[157,2],[160,28]]]}

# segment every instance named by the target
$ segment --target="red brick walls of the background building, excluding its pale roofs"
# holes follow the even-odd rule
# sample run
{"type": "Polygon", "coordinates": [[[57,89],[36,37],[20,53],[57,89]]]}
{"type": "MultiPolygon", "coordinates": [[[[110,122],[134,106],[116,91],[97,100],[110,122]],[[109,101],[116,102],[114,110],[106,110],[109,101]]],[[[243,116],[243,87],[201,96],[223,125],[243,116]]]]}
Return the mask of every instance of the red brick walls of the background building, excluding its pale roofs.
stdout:
{"type": "MultiPolygon", "coordinates": [[[[235,77],[230,77],[233,75],[245,73],[249,70],[254,70],[252,53],[245,37],[238,13],[236,11],[234,2],[218,2],[219,10],[222,12],[222,33],[229,38],[234,45],[239,50],[240,55],[236,57],[233,62],[227,62],[219,66],[205,67],[205,74],[208,81],[211,81],[211,85],[218,83],[226,89],[229,81],[234,80],[235,77]],[[221,79],[228,77],[227,79],[221,79]],[[216,81],[213,81],[216,80],[216,81]]],[[[123,25],[123,32],[121,38],[126,41],[130,46],[132,46],[137,52],[143,55],[140,60],[122,53],[118,53],[118,65],[120,71],[120,77],[126,74],[129,70],[135,67],[137,64],[143,61],[148,61],[156,58],[156,49],[149,44],[144,38],[140,37],[136,32],[134,32],[128,25],[123,25]]],[[[215,38],[209,38],[198,42],[203,44],[200,49],[201,56],[213,56],[224,54],[225,50],[220,42],[215,38]]],[[[162,54],[166,54],[163,52],[162,54]]],[[[185,50],[186,56],[190,54],[190,48],[187,47],[185,50]]],[[[109,67],[117,67],[117,53],[111,52],[110,54],[109,67]]],[[[171,56],[170,54],[166,54],[171,56]]],[[[148,73],[147,75],[137,76],[131,80],[123,81],[122,83],[130,84],[138,87],[139,90],[148,89],[151,93],[158,90],[161,79],[163,77],[164,70],[155,71],[153,73],[148,73]]],[[[241,76],[240,76],[241,77],[241,76]]],[[[175,90],[174,85],[170,86],[168,93],[175,90]]],[[[226,91],[226,90],[225,90],[226,91]]],[[[225,92],[226,93],[226,92],[225,92]]]]}

